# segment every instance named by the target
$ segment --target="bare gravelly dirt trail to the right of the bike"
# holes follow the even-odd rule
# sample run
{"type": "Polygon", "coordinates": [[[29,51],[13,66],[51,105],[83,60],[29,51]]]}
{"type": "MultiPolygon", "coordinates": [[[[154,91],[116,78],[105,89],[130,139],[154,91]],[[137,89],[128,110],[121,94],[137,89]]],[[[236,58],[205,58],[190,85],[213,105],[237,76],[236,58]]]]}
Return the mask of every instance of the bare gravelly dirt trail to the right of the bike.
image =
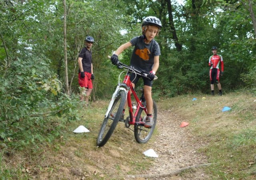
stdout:
{"type": "MultiPolygon", "coordinates": [[[[180,127],[182,121],[186,120],[178,117],[171,110],[158,110],[158,135],[156,141],[150,143],[158,158],[155,158],[150,170],[144,171],[142,174],[168,174],[179,168],[208,163],[206,157],[197,152],[198,148],[204,146],[204,142],[190,134],[190,125],[180,127]]],[[[200,180],[207,179],[207,177],[203,172],[196,170],[188,177],[171,176],[150,179],[200,180]]]]}

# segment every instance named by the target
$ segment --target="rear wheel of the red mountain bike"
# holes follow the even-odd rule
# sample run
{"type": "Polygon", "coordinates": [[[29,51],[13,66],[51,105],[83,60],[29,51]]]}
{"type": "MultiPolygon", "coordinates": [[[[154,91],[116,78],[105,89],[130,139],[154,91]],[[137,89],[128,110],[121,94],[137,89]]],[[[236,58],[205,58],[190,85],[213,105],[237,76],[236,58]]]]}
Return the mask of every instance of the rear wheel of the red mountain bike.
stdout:
{"type": "MultiPolygon", "coordinates": [[[[136,122],[145,121],[147,114],[140,108],[138,115],[136,117],[136,122]]],[[[138,143],[147,143],[150,137],[152,136],[154,129],[156,127],[156,119],[157,119],[157,107],[156,102],[153,100],[153,110],[152,116],[154,120],[154,125],[151,128],[146,128],[143,125],[134,125],[134,137],[138,143]]]]}

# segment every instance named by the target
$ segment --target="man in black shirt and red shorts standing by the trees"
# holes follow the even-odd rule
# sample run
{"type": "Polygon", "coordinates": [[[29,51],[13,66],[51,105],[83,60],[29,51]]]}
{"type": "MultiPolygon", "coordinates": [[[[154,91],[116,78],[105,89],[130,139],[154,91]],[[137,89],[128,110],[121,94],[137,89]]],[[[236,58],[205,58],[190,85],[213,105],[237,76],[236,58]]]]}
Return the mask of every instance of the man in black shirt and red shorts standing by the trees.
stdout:
{"type": "Polygon", "coordinates": [[[88,100],[92,92],[92,80],[94,80],[93,68],[92,68],[92,44],[94,39],[91,36],[85,38],[85,47],[81,50],[78,57],[78,83],[82,88],[80,92],[80,100],[86,101],[86,106],[88,105],[88,100]]]}

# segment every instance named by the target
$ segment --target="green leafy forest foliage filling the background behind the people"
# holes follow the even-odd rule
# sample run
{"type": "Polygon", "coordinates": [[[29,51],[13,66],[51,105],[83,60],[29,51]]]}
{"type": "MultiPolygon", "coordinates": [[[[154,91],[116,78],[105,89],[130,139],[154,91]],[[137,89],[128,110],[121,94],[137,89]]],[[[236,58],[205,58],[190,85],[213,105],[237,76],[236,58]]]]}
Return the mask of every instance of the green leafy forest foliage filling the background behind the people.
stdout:
{"type": "MultiPolygon", "coordinates": [[[[66,115],[64,121],[77,119],[75,107],[80,106],[76,97],[79,93],[77,58],[87,35],[96,40],[92,48],[96,76],[92,100],[109,98],[120,70],[106,57],[132,37],[141,35],[141,22],[146,16],[157,16],[163,24],[156,37],[162,55],[158,80],[153,86],[154,97],[210,92],[207,64],[213,45],[224,58],[225,73],[221,79],[224,90],[244,86],[255,89],[253,12],[249,13],[244,0],[185,1],[183,6],[171,1],[173,22],[168,19],[166,0],[68,1],[66,38],[70,97],[62,88],[65,82],[63,2],[6,0],[0,3],[2,141],[18,137],[18,132],[25,129],[34,129],[33,125],[47,128],[57,116],[66,115]],[[177,39],[173,37],[171,23],[182,47],[179,52],[175,48],[177,39]]],[[[127,49],[120,60],[129,64],[131,53],[132,48],[127,49]]]]}

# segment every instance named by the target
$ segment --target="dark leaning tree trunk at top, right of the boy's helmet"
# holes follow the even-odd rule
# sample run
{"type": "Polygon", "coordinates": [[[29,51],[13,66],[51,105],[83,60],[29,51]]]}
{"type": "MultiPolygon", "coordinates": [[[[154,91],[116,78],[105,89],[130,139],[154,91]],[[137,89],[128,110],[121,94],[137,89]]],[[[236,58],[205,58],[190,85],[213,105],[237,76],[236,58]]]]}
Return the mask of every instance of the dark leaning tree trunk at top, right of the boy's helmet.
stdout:
{"type": "Polygon", "coordinates": [[[175,47],[177,49],[177,51],[181,51],[182,50],[182,45],[179,43],[177,34],[176,34],[176,29],[174,27],[174,22],[173,22],[173,17],[172,17],[172,4],[171,4],[171,0],[166,0],[167,2],[167,8],[168,8],[168,18],[169,18],[169,24],[170,24],[170,28],[172,31],[172,38],[174,39],[174,44],[175,47]]]}

